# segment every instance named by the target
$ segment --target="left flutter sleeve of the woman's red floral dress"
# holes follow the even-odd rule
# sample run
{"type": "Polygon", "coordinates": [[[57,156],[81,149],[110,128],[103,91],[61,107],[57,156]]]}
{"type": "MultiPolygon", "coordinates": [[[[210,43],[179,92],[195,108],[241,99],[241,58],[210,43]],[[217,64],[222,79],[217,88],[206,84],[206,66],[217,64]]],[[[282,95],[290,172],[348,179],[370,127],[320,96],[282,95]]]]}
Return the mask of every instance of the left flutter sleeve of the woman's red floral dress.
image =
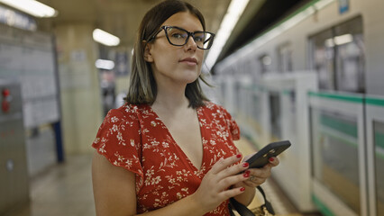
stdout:
{"type": "Polygon", "coordinates": [[[129,106],[107,113],[92,144],[114,166],[121,166],[142,180],[141,130],[137,114],[129,106]]]}

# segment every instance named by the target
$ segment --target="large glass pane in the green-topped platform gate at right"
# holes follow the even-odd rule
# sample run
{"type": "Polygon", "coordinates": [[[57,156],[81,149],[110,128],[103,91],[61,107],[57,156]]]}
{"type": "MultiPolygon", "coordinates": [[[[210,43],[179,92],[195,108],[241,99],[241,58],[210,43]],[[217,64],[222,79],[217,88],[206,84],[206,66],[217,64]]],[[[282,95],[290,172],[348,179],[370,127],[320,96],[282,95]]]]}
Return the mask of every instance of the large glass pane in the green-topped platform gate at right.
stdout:
{"type": "Polygon", "coordinates": [[[359,215],[356,116],[312,108],[311,122],[313,176],[359,215]]]}

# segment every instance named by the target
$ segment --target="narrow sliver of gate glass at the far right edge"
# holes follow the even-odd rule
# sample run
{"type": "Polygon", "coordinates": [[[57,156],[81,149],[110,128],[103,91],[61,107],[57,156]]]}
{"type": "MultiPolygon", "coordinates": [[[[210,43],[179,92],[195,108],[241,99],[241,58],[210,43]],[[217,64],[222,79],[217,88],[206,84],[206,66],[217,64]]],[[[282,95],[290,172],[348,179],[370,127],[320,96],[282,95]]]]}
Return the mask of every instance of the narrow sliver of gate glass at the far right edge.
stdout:
{"type": "Polygon", "coordinates": [[[384,122],[373,122],[377,215],[384,215],[384,122]]]}

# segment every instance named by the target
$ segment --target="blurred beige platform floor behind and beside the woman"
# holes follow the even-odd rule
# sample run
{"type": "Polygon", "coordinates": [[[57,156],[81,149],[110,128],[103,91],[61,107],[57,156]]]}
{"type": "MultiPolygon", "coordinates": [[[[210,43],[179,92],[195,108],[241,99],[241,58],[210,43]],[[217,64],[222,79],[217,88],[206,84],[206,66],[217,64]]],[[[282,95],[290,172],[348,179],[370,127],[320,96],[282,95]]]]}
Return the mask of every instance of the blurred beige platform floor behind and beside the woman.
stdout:
{"type": "MultiPolygon", "coordinates": [[[[244,155],[254,151],[247,139],[238,141],[236,145],[244,155]]],[[[91,155],[69,155],[65,163],[51,166],[31,180],[31,202],[9,211],[4,216],[95,216],[91,158],[91,155]]],[[[288,201],[273,179],[262,184],[262,187],[272,202],[276,215],[302,215],[288,201]]],[[[259,205],[260,201],[256,198],[249,207],[259,205]]]]}

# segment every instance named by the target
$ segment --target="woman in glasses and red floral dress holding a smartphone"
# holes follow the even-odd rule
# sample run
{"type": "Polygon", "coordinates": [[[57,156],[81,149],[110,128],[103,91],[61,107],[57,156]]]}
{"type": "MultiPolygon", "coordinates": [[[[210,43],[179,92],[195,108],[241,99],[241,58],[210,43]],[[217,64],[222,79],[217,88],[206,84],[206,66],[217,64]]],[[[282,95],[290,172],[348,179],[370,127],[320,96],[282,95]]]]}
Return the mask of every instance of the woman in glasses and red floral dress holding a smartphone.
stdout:
{"type": "Polygon", "coordinates": [[[230,215],[228,199],[249,204],[279,164],[240,162],[237,124],[202,94],[198,78],[214,36],[181,1],[144,16],[126,103],[108,112],[93,143],[97,215],[230,215]]]}

